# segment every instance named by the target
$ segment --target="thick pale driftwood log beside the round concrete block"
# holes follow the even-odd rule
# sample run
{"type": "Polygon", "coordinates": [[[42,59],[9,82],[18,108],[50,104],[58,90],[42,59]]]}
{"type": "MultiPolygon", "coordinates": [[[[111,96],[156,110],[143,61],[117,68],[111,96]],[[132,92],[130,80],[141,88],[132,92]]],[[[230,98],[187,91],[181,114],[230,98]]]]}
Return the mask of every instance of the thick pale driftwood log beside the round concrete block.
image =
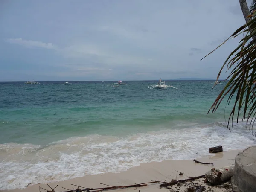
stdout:
{"type": "Polygon", "coordinates": [[[225,166],[219,169],[212,168],[205,173],[205,178],[213,185],[230,180],[235,174],[235,166],[225,166]]]}

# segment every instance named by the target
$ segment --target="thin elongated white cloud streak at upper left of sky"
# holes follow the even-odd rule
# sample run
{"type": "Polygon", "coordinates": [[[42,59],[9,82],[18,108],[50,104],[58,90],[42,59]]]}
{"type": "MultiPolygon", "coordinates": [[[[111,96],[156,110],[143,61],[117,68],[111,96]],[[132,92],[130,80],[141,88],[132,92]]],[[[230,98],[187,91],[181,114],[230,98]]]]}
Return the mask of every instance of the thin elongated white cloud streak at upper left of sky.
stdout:
{"type": "Polygon", "coordinates": [[[40,48],[45,48],[45,49],[57,49],[55,45],[52,43],[44,43],[41,41],[32,41],[32,40],[24,40],[22,38],[16,38],[16,39],[6,39],[7,42],[12,43],[12,44],[18,44],[18,45],[23,45],[26,47],[40,47],[40,48]]]}

